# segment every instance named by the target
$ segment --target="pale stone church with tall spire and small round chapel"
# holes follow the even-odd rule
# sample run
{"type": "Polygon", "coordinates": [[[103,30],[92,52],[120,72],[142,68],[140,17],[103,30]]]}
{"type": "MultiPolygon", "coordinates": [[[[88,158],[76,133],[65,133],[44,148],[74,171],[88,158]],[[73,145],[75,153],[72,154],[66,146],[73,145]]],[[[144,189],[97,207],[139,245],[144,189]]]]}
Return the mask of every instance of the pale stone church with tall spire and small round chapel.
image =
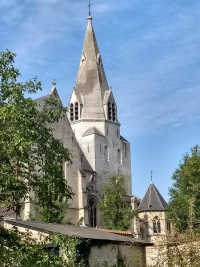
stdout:
{"type": "MultiPolygon", "coordinates": [[[[92,17],[87,20],[76,86],[69,96],[68,112],[53,125],[55,137],[75,155],[73,163],[64,166],[65,179],[75,193],[66,219],[77,223],[84,218],[83,226],[103,228],[98,203],[104,198],[103,190],[110,176],[122,175],[127,188],[125,199],[132,209],[139,211],[130,230],[140,239],[155,241],[156,236],[160,238],[166,235],[166,230],[171,231],[165,216],[167,203],[153,183],[143,199],[132,195],[130,143],[120,134],[120,110],[108,85],[92,17]]],[[[49,97],[60,99],[55,79],[49,95],[35,100],[38,109],[46,108],[49,97]]],[[[32,204],[34,199],[34,193],[31,193],[22,211],[22,220],[27,220],[31,213],[36,221],[40,221],[32,204]]]]}

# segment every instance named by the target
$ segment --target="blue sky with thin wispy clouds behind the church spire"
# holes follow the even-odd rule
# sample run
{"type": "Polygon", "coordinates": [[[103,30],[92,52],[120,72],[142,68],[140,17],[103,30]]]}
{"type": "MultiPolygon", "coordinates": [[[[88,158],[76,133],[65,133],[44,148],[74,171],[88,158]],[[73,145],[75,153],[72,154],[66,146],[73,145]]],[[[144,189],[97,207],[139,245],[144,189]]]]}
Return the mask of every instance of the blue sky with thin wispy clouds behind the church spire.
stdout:
{"type": "MultiPolygon", "coordinates": [[[[93,25],[121,133],[131,142],[133,193],[153,181],[168,200],[182,155],[200,143],[200,2],[93,0],[93,25]]],[[[17,54],[22,80],[64,105],[76,82],[87,0],[0,0],[0,51],[17,54]]]]}

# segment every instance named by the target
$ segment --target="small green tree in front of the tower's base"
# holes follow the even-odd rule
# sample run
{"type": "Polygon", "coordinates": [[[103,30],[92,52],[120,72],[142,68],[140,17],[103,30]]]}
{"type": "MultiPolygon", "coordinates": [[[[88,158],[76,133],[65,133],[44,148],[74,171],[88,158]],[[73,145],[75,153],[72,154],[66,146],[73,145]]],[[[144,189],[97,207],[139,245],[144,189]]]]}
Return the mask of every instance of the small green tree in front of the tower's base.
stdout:
{"type": "Polygon", "coordinates": [[[126,231],[136,215],[125,201],[127,189],[123,176],[111,176],[110,182],[104,189],[104,200],[98,205],[103,213],[104,223],[108,229],[126,231]]]}

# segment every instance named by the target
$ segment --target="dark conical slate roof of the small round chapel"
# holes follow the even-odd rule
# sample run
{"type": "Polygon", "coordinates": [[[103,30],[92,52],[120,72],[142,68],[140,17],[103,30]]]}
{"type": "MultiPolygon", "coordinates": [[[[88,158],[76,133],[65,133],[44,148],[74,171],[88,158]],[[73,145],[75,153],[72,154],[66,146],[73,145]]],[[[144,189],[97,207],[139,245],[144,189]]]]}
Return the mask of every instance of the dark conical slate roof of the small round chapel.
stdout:
{"type": "Polygon", "coordinates": [[[165,211],[167,206],[167,202],[161,196],[158,189],[151,183],[138,209],[139,211],[165,211]]]}

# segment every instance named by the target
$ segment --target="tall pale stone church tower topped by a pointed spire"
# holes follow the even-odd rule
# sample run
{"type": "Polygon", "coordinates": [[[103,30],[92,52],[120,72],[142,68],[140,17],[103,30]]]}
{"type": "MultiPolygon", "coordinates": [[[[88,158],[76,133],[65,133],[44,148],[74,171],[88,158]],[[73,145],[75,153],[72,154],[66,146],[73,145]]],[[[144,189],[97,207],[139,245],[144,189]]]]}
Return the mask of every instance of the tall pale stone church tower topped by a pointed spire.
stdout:
{"type": "Polygon", "coordinates": [[[113,174],[125,176],[127,194],[131,194],[130,144],[120,135],[117,104],[108,87],[91,16],[68,108],[74,135],[95,171],[87,181],[88,205],[90,199],[102,200],[104,186],[113,174]]]}

